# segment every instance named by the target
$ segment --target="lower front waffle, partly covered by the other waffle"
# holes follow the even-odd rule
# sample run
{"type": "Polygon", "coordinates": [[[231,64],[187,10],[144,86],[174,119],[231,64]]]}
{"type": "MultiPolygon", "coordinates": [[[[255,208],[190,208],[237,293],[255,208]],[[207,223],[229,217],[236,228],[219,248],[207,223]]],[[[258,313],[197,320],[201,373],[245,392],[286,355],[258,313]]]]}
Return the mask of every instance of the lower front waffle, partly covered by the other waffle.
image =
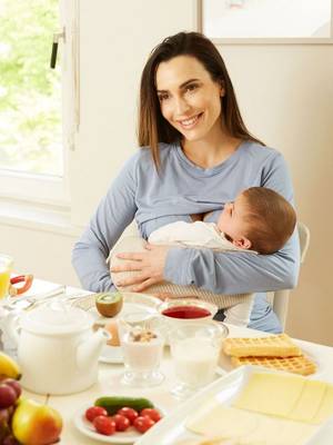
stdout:
{"type": "Polygon", "coordinates": [[[304,355],[296,357],[231,357],[231,363],[235,367],[259,365],[304,376],[316,372],[315,364],[304,355]]]}

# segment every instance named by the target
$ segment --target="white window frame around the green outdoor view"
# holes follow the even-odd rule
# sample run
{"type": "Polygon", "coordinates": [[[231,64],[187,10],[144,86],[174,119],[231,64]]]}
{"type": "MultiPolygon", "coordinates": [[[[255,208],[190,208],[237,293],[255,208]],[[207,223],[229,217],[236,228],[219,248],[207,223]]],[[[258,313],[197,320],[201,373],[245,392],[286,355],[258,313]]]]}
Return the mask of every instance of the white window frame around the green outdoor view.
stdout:
{"type": "MultiPolygon", "coordinates": [[[[79,0],[59,0],[59,29],[64,30],[58,56],[62,83],[63,176],[0,169],[0,198],[31,200],[46,205],[70,205],[69,151],[75,149],[79,129],[79,0]]],[[[50,30],[50,55],[52,32],[57,31],[50,30]]]]}

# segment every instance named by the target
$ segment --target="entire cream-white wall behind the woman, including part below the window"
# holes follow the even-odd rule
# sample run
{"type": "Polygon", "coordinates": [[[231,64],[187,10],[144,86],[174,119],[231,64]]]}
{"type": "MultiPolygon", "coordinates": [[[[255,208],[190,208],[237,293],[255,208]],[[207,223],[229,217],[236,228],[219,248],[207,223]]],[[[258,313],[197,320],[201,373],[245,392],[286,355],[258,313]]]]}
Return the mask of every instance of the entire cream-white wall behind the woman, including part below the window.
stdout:
{"type": "MultiPolygon", "coordinates": [[[[162,37],[191,30],[193,0],[81,0],[81,127],[72,152],[72,222],[83,226],[110,180],[135,149],[140,72],[162,37]],[[77,176],[85,178],[78,186],[77,176]]],[[[333,227],[333,47],[225,46],[225,58],[250,129],[280,149],[294,179],[299,217],[312,239],[287,332],[333,345],[331,285],[333,227]]],[[[75,285],[70,265],[72,231],[40,231],[0,219],[1,251],[18,270],[75,285]]]]}

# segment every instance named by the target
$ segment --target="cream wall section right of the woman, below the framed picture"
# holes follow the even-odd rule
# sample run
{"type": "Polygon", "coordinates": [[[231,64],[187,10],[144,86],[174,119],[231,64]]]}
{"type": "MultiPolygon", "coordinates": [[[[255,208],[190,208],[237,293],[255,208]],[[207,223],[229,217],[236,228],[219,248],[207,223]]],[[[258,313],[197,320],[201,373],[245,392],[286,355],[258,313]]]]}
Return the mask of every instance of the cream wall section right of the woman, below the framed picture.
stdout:
{"type": "Polygon", "coordinates": [[[285,156],[311,244],[286,330],[333,345],[333,47],[221,48],[250,129],[285,156]]]}

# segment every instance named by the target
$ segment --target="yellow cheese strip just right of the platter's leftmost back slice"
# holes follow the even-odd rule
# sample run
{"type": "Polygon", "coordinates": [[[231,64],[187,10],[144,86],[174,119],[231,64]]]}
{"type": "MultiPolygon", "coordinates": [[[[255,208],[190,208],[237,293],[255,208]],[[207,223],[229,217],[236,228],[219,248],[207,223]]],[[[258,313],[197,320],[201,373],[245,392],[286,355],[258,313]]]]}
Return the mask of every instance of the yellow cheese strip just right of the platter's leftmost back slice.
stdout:
{"type": "Polygon", "coordinates": [[[321,408],[327,384],[324,382],[306,380],[299,400],[287,417],[294,421],[312,423],[321,408]]]}

